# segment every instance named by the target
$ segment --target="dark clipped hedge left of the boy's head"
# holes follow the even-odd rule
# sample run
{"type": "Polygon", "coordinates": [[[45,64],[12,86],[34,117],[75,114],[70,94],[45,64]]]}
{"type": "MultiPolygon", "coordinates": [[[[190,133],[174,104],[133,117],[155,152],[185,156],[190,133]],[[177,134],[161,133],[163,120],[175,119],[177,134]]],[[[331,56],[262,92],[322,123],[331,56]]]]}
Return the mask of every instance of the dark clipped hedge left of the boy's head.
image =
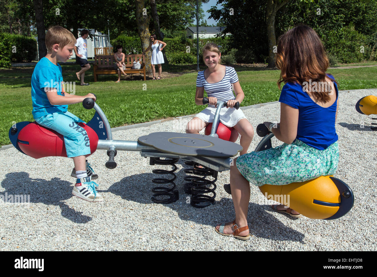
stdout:
{"type": "Polygon", "coordinates": [[[37,59],[37,40],[24,35],[4,34],[11,44],[11,61],[27,61],[37,59]],[[14,47],[15,46],[15,47],[14,47]]]}

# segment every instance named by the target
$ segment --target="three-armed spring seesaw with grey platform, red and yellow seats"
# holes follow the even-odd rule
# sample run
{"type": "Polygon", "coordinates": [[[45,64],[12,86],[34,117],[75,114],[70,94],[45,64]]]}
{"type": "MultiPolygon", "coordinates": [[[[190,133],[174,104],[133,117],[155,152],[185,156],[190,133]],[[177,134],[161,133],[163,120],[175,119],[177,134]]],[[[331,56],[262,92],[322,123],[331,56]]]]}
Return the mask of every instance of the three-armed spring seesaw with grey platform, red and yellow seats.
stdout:
{"type": "MultiPolygon", "coordinates": [[[[219,108],[223,104],[218,102],[216,113],[219,113],[219,108]]],[[[230,158],[236,156],[242,150],[241,145],[216,138],[215,133],[212,132],[208,136],[156,132],[141,136],[138,141],[114,140],[109,121],[97,103],[91,98],[86,98],[83,101],[83,106],[86,109],[94,108],[96,112],[87,124],[79,123],[75,127],[77,129],[80,127],[83,135],[87,136],[91,153],[94,153],[96,149],[107,150],[109,156],[109,160],[105,164],[107,168],[116,167],[114,157],[117,150],[139,151],[141,156],[150,158],[151,165],[173,166],[172,170],[158,169],[152,171],[153,173],[170,174],[172,176],[171,179],[154,179],[156,184],[169,183],[173,185],[172,188],[156,187],[152,189],[152,192],[155,193],[152,201],[156,203],[167,204],[178,200],[178,191],[174,190],[176,175],[173,172],[177,169],[175,163],[179,159],[183,159],[194,162],[192,171],[197,171],[199,176],[204,176],[194,180],[190,176],[191,179],[189,180],[193,180],[193,182],[198,183],[197,186],[201,187],[195,190],[196,186],[194,185],[191,188],[193,194],[191,204],[199,208],[214,204],[215,192],[212,192],[213,196],[205,195],[211,190],[205,185],[213,183],[213,181],[205,181],[205,176],[213,176],[216,180],[217,173],[229,170],[230,164],[233,162],[230,158]],[[202,165],[203,168],[199,168],[198,165],[202,165]],[[168,198],[160,199],[161,197],[168,198]],[[197,199],[195,200],[195,198],[197,199]]],[[[217,123],[218,121],[214,121],[213,125],[217,126],[217,123]]],[[[268,145],[271,147],[270,139],[272,136],[272,134],[265,136],[257,148],[262,150],[267,149],[268,145]]],[[[18,151],[36,159],[46,156],[66,156],[63,136],[38,125],[36,122],[24,121],[13,125],[9,130],[9,139],[18,151]]],[[[264,185],[261,190],[263,193],[268,191],[268,194],[290,193],[290,206],[299,213],[314,219],[336,219],[345,215],[351,209],[353,194],[346,184],[328,176],[319,177],[315,180],[317,181],[272,186],[272,188],[269,187],[270,185],[264,185]],[[322,179],[326,179],[326,182],[322,179]],[[288,188],[288,186],[291,186],[291,189],[282,189],[282,187],[288,188]],[[280,191],[273,191],[276,187],[280,187],[280,191]]]]}

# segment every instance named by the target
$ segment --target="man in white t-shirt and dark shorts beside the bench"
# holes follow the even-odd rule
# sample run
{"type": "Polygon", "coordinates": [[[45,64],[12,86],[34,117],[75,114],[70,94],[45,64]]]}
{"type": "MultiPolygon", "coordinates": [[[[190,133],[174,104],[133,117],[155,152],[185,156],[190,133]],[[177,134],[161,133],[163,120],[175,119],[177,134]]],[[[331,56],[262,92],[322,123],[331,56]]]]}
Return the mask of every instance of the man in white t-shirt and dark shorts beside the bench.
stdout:
{"type": "Polygon", "coordinates": [[[76,54],[76,63],[80,64],[81,70],[76,72],[77,79],[81,81],[81,86],[89,86],[88,83],[84,83],[85,71],[90,69],[88,63],[88,54],[86,49],[86,38],[89,36],[89,31],[84,29],[81,31],[81,37],[76,40],[74,51],[76,54]],[[81,78],[81,80],[80,80],[81,78]]]}

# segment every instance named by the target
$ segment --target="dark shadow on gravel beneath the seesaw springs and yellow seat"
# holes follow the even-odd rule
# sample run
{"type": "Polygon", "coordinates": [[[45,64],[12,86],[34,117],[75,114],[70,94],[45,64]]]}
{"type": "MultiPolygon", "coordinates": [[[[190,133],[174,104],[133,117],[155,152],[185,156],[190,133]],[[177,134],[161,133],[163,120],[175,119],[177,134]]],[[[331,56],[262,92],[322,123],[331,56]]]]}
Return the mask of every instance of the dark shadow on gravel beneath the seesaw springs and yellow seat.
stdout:
{"type": "MultiPolygon", "coordinates": [[[[183,165],[183,161],[179,160],[178,164],[183,165]]],[[[190,168],[187,165],[183,166],[190,168]]],[[[155,169],[157,168],[168,169],[167,167],[156,165],[155,169]]],[[[181,220],[187,222],[193,221],[201,225],[210,226],[211,228],[218,223],[229,222],[234,219],[234,207],[231,198],[222,197],[220,200],[216,201],[216,205],[210,205],[206,208],[195,208],[187,203],[189,199],[187,197],[190,197],[190,194],[186,194],[183,188],[183,184],[185,183],[183,177],[187,175],[184,173],[183,169],[177,170],[175,174],[177,178],[174,182],[176,184],[176,190],[179,191],[179,199],[170,204],[153,204],[150,200],[153,195],[151,191],[153,187],[172,187],[171,184],[153,184],[151,181],[153,178],[169,178],[170,176],[157,175],[152,172],[126,176],[120,182],[111,185],[108,190],[98,190],[98,192],[110,192],[120,196],[122,199],[141,204],[164,205],[166,208],[176,211],[181,220]]],[[[216,192],[224,190],[221,184],[217,183],[216,185],[216,192]]],[[[257,193],[258,192],[259,190],[257,193]]],[[[251,193],[256,192],[252,191],[251,193]]],[[[279,219],[267,211],[271,211],[268,205],[249,203],[248,224],[251,234],[269,240],[302,242],[305,238],[304,234],[285,226],[279,219]]],[[[295,222],[299,223],[299,219],[295,220],[295,222]]],[[[213,233],[215,234],[214,230],[213,233]]]]}

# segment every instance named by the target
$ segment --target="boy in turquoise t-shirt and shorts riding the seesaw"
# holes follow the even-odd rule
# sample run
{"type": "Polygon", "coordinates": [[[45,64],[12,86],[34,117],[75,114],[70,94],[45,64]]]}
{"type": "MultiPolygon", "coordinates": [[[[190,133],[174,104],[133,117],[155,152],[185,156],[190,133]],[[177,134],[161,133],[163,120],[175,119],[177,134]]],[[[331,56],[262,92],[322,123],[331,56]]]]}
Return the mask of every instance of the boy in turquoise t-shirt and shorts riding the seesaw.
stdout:
{"type": "Polygon", "coordinates": [[[67,157],[73,158],[75,168],[71,176],[77,178],[72,194],[92,202],[103,201],[95,190],[98,186],[93,179],[98,176],[86,161],[90,154],[86,132],[77,125],[84,122],[67,111],[69,104],[82,102],[85,98],[96,100],[92,93],[85,96],[70,95],[64,91],[61,67],[58,61],[66,62],[72,55],[76,39],[67,29],[54,26],[46,34],[47,55],[37,63],[31,78],[31,98],[34,120],[64,136],[67,157]]]}

